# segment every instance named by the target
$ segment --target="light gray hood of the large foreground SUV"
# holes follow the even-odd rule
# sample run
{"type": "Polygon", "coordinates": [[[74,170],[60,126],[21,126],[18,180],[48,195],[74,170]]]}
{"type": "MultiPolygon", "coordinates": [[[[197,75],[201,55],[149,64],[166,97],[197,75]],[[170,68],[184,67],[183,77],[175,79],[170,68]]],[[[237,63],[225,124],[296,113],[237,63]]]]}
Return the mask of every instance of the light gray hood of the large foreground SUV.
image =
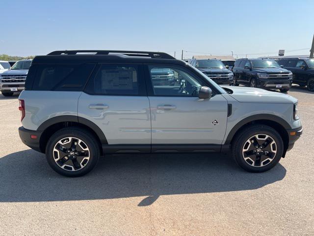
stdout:
{"type": "Polygon", "coordinates": [[[256,89],[250,87],[235,87],[235,86],[221,86],[227,90],[232,90],[229,93],[238,102],[248,103],[296,103],[298,99],[276,91],[268,91],[265,89],[256,89]]]}

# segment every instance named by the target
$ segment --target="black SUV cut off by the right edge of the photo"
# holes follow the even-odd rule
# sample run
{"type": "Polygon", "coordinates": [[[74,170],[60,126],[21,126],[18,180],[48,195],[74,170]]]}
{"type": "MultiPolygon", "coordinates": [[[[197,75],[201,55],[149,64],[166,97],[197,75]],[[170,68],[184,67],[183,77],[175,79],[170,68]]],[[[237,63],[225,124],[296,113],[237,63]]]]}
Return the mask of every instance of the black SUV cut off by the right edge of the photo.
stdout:
{"type": "Polygon", "coordinates": [[[278,64],[293,73],[293,83],[307,86],[309,91],[314,91],[314,59],[289,58],[280,59],[278,64]]]}

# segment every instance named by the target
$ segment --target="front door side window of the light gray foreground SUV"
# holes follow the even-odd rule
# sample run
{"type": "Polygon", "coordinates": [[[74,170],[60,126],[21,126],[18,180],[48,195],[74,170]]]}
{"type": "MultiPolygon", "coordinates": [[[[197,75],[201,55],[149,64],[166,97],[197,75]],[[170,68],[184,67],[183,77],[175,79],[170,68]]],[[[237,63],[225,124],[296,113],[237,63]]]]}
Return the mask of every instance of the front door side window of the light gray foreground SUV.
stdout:
{"type": "Polygon", "coordinates": [[[198,96],[201,82],[177,67],[149,66],[154,95],[198,96]]]}

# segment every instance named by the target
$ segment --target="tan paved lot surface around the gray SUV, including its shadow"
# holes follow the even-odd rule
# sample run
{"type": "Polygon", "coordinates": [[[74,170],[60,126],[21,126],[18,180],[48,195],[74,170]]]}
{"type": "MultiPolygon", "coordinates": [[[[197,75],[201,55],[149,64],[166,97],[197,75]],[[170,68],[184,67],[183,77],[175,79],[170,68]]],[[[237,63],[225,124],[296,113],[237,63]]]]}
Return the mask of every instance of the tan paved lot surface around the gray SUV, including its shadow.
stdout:
{"type": "Polygon", "coordinates": [[[0,235],[314,235],[314,93],[293,87],[304,131],[272,170],[228,155],[106,156],[67,178],[20,141],[0,94],[0,235]]]}

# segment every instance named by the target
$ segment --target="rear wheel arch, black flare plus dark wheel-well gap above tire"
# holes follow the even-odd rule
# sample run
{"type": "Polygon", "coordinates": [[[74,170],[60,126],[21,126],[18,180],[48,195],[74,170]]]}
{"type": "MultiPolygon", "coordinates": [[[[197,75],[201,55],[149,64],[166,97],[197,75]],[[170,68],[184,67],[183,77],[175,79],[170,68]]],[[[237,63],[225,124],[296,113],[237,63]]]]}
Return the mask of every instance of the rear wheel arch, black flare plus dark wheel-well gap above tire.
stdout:
{"type": "Polygon", "coordinates": [[[37,128],[37,131],[43,132],[39,141],[40,150],[43,153],[45,153],[46,145],[51,135],[65,127],[80,127],[89,131],[97,139],[101,153],[102,145],[108,144],[104,132],[94,122],[77,116],[58,116],[46,120],[37,128]]]}

